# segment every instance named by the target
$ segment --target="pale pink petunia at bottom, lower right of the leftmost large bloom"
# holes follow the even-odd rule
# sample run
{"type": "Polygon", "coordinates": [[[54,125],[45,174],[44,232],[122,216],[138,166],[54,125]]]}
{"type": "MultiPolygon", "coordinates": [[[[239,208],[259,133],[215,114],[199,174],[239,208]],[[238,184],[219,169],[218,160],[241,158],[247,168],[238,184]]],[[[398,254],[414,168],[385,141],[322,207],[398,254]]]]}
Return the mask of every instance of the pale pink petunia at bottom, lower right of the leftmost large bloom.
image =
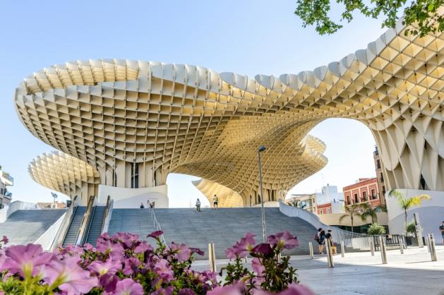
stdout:
{"type": "Polygon", "coordinates": [[[70,257],[65,260],[52,260],[44,268],[44,280],[50,285],[55,284],[66,295],[88,293],[97,286],[97,277],[90,277],[90,272],[83,270],[78,262],[80,257],[70,257]]]}

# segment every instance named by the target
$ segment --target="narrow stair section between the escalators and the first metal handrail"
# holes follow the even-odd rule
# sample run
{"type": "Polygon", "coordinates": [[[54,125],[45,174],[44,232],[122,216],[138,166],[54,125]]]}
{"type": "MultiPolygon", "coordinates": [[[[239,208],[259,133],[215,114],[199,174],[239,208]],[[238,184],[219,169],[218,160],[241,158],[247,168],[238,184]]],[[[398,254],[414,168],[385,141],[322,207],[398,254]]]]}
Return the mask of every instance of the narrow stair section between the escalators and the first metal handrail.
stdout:
{"type": "Polygon", "coordinates": [[[113,209],[108,234],[112,236],[119,231],[138,234],[140,239],[147,240],[146,236],[155,231],[149,209],[113,209]]]}

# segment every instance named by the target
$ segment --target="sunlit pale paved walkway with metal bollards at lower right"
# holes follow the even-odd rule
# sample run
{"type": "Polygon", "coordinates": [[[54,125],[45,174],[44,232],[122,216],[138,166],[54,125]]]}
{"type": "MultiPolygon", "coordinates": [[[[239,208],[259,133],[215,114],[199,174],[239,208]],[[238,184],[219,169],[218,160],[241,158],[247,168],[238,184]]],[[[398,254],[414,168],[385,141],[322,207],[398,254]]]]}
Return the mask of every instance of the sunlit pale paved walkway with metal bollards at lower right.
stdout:
{"type": "MultiPolygon", "coordinates": [[[[335,255],[335,267],[329,268],[325,255],[311,260],[306,255],[292,256],[302,284],[316,294],[328,295],[443,295],[444,246],[437,246],[438,261],[432,262],[427,248],[388,251],[388,264],[381,264],[380,252],[335,255]]],[[[217,260],[218,270],[227,260],[217,260]]],[[[198,270],[208,269],[208,262],[196,261],[198,270]]]]}

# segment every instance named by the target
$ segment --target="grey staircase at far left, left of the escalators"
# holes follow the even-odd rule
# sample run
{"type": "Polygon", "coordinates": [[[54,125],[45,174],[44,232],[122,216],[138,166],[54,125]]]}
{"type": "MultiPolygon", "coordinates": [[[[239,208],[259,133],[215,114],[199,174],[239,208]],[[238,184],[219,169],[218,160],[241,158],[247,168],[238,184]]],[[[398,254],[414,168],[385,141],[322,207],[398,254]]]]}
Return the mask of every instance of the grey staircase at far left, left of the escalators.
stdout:
{"type": "Polygon", "coordinates": [[[34,243],[64,212],[64,209],[17,210],[0,223],[0,236],[8,237],[6,246],[34,243]]]}

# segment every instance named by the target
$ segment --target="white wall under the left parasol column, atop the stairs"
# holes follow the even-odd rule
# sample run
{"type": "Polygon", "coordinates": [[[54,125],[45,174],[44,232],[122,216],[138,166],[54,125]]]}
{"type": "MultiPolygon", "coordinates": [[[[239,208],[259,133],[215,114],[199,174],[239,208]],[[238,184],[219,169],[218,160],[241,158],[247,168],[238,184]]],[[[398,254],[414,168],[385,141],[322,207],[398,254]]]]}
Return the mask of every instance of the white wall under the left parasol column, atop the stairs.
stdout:
{"type": "Polygon", "coordinates": [[[118,188],[114,186],[99,186],[98,203],[106,204],[108,195],[114,200],[114,209],[138,208],[140,203],[145,207],[147,201],[155,202],[156,208],[169,207],[168,188],[164,186],[154,186],[152,188],[118,188]]]}

